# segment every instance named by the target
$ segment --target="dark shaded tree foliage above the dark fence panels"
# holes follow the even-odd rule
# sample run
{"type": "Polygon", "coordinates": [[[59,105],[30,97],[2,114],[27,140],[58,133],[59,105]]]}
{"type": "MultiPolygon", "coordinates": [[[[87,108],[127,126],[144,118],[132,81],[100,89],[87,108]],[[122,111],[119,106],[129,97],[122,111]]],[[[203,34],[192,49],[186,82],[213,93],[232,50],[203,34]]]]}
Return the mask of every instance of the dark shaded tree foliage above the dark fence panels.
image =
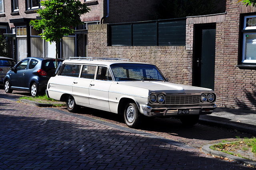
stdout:
{"type": "Polygon", "coordinates": [[[152,20],[170,18],[184,18],[187,16],[200,16],[216,14],[220,0],[162,0],[156,12],[150,15],[152,20]]]}

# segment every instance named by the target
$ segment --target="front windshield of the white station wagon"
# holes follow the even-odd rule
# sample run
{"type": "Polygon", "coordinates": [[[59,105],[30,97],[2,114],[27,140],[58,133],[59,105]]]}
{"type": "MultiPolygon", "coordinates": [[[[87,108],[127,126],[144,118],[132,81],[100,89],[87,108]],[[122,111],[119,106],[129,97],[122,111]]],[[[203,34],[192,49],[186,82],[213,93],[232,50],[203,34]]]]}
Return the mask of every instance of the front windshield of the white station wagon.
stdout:
{"type": "Polygon", "coordinates": [[[155,65],[117,63],[110,67],[116,81],[165,81],[155,65]]]}

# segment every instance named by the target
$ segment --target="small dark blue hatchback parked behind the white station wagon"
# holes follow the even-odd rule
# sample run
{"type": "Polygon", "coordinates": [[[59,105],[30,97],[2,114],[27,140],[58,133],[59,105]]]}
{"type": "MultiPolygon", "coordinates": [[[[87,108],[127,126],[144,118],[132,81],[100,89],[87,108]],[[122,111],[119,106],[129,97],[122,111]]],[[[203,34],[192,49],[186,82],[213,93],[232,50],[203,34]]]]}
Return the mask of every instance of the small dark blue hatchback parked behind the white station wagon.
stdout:
{"type": "MultiPolygon", "coordinates": [[[[58,59],[58,63],[64,61],[58,59]]],[[[27,57],[10,67],[10,71],[4,77],[4,90],[12,93],[13,90],[30,91],[35,97],[45,93],[50,77],[55,76],[55,64],[53,58],[27,57]]]]}

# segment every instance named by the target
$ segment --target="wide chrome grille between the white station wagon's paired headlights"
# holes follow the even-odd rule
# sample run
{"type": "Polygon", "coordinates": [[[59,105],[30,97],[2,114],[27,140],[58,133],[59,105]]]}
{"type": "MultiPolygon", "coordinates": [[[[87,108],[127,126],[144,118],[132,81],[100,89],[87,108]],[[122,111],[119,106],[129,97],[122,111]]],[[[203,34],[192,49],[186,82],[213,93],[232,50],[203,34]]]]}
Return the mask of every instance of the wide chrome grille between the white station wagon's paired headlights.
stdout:
{"type": "Polygon", "coordinates": [[[166,95],[166,105],[189,105],[199,104],[200,95],[166,95]]]}

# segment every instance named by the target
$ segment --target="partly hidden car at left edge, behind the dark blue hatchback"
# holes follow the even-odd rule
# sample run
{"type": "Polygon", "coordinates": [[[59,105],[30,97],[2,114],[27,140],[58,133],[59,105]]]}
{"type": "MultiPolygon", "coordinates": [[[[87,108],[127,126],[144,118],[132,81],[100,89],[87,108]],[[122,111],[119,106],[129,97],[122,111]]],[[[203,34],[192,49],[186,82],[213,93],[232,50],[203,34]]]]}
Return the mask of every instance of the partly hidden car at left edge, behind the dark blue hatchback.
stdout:
{"type": "Polygon", "coordinates": [[[14,66],[16,61],[8,57],[0,56],[0,84],[4,83],[4,77],[6,73],[10,70],[10,67],[14,66]]]}

